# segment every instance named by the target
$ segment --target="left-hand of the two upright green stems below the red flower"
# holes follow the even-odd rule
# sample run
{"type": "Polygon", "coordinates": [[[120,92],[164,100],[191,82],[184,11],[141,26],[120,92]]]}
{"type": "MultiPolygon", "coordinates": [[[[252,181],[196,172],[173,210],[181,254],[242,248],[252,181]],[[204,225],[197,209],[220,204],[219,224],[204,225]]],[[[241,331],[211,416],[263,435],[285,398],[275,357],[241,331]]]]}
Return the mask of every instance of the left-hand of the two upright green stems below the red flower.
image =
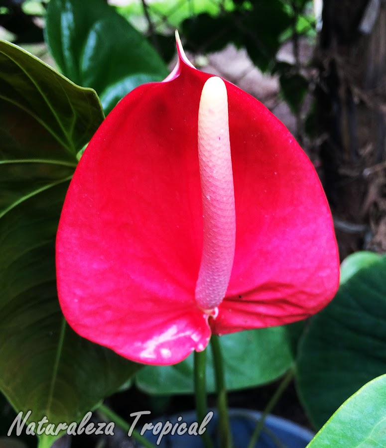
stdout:
{"type": "MultiPolygon", "coordinates": [[[[198,422],[202,422],[207,414],[206,403],[206,349],[194,352],[194,394],[196,397],[196,413],[198,422]]],[[[201,434],[205,448],[213,448],[207,431],[201,434]]]]}

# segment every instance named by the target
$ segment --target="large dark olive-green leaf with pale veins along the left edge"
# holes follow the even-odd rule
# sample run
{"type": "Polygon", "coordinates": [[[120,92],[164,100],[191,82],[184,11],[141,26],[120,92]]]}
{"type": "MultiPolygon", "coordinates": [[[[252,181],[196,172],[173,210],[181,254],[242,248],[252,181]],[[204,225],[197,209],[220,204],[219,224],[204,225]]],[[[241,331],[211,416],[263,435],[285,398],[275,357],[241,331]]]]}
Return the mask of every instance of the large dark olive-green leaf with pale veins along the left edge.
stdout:
{"type": "Polygon", "coordinates": [[[0,42],[0,389],[33,422],[79,421],[138,368],[77,336],[56,295],[61,207],[102,120],[94,91],[0,42]]]}

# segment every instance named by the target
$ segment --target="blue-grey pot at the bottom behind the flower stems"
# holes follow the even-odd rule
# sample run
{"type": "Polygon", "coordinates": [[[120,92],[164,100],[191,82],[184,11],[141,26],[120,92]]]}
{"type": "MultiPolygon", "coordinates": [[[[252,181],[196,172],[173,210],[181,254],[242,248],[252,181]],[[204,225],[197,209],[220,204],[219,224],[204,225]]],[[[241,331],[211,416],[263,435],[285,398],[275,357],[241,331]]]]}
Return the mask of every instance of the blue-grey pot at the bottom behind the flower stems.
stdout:
{"type": "MultiPolygon", "coordinates": [[[[261,413],[248,409],[230,409],[229,411],[231,419],[231,431],[233,436],[233,444],[235,448],[246,448],[251,440],[251,437],[255,431],[258,420],[261,418],[261,413]]],[[[169,421],[171,425],[183,422],[186,423],[186,427],[196,422],[196,414],[189,412],[181,415],[175,415],[164,419],[163,424],[169,421]],[[178,417],[182,417],[182,420],[177,420],[178,417]]],[[[157,422],[153,422],[156,425],[157,422]]],[[[205,426],[206,431],[209,433],[215,446],[220,447],[219,437],[217,432],[218,417],[214,412],[212,419],[205,426]]],[[[200,427],[200,425],[198,425],[200,427]]],[[[158,424],[158,428],[160,425],[158,424]]],[[[181,427],[181,432],[184,427],[181,427]]],[[[174,435],[166,434],[161,437],[158,446],[161,448],[202,448],[204,445],[200,436],[189,435],[187,431],[183,435],[177,434],[177,429],[174,435]]],[[[191,432],[194,432],[194,427],[191,432]]],[[[160,434],[154,435],[150,430],[146,431],[145,437],[153,444],[156,444],[160,434]]],[[[155,431],[156,432],[156,431],[155,431]]],[[[313,438],[314,434],[305,428],[302,428],[289,420],[282,419],[280,417],[268,416],[265,419],[264,429],[257,441],[255,448],[305,448],[313,438]]]]}

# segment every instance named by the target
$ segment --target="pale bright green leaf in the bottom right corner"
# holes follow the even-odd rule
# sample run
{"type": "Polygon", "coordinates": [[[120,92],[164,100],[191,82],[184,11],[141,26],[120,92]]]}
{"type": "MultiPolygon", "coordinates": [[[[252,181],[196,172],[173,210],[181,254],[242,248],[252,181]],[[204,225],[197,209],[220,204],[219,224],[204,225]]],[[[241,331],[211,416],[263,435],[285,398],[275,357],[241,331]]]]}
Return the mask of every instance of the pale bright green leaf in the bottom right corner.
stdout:
{"type": "Polygon", "coordinates": [[[330,418],[307,447],[386,447],[386,375],[363,386],[330,418]]]}

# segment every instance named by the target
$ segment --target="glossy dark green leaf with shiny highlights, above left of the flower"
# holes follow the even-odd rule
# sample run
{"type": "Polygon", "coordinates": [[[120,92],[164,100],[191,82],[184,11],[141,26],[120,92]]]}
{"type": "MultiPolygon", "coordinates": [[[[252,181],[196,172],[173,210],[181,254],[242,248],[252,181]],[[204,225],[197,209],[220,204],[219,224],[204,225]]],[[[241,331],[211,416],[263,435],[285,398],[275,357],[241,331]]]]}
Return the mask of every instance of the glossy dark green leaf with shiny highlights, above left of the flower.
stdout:
{"type": "Polygon", "coordinates": [[[104,0],[51,0],[46,40],[62,72],[100,96],[120,83],[126,95],[143,82],[134,75],[145,74],[147,82],[167,74],[153,47],[104,0]]]}

